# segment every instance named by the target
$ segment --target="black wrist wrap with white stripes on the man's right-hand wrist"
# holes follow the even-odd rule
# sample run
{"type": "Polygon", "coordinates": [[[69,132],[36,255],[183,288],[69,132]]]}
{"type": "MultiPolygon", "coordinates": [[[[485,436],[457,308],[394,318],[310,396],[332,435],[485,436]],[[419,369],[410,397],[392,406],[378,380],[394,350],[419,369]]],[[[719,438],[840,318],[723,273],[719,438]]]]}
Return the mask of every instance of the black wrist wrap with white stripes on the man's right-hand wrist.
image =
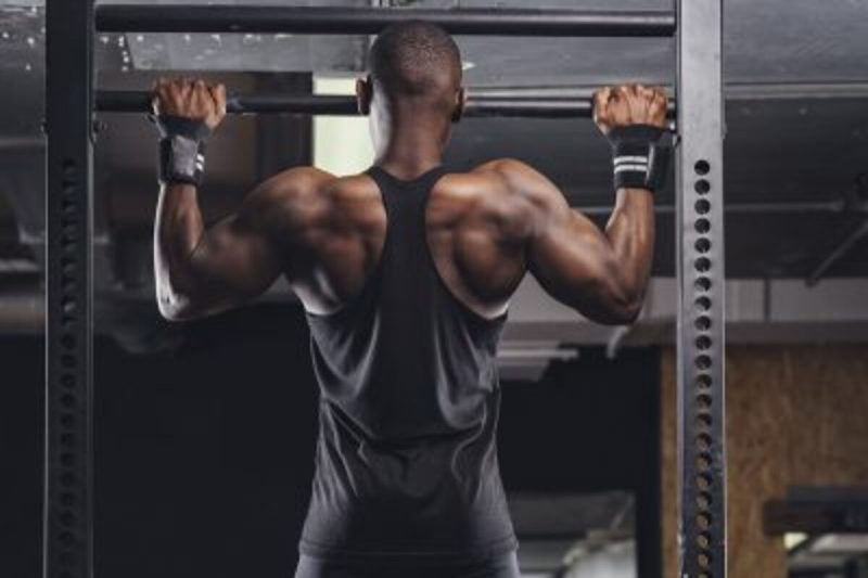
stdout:
{"type": "Polygon", "coordinates": [[[651,125],[630,125],[609,132],[615,190],[633,188],[655,192],[663,187],[672,156],[666,134],[666,129],[651,125]]]}

